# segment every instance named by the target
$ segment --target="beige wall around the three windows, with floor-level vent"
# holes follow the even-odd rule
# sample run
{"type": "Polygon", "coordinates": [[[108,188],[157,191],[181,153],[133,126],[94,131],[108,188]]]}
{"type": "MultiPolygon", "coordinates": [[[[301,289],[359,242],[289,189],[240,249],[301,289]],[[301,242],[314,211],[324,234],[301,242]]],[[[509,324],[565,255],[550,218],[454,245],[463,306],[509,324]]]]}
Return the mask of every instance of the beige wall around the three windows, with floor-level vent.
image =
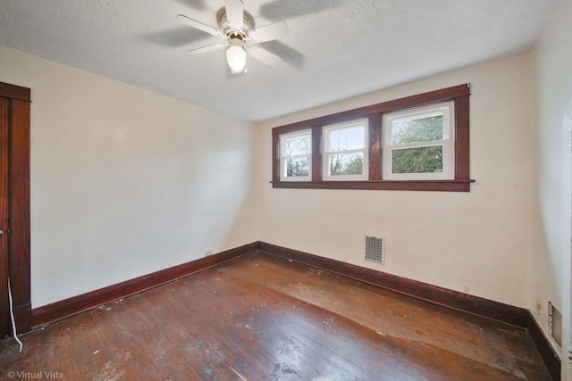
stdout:
{"type": "Polygon", "coordinates": [[[528,308],[531,74],[523,54],[261,123],[261,240],[528,308]],[[467,82],[470,193],[268,183],[273,127],[467,82]],[[366,235],[385,237],[385,265],[364,261],[366,235]]]}

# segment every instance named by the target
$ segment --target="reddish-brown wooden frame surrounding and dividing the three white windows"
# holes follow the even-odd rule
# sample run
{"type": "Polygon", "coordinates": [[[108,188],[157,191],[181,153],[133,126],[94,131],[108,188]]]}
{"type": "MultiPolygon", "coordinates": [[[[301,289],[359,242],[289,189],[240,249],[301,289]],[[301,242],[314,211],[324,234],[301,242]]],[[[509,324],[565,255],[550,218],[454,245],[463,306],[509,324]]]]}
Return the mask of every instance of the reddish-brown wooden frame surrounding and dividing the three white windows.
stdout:
{"type": "Polygon", "coordinates": [[[311,120],[275,127],[273,135],[273,188],[309,188],[309,189],[369,189],[369,190],[416,190],[416,191],[449,191],[469,192],[469,84],[442,88],[432,92],[411,95],[397,100],[372,104],[346,112],[338,112],[311,120]],[[382,119],[391,112],[404,111],[409,108],[431,104],[453,102],[454,115],[454,178],[452,179],[404,179],[392,180],[382,178],[382,119]],[[342,121],[359,118],[369,119],[368,178],[366,180],[326,181],[323,179],[322,141],[323,127],[342,121]],[[311,129],[312,160],[311,180],[281,181],[280,179],[280,136],[282,134],[311,129]]]}

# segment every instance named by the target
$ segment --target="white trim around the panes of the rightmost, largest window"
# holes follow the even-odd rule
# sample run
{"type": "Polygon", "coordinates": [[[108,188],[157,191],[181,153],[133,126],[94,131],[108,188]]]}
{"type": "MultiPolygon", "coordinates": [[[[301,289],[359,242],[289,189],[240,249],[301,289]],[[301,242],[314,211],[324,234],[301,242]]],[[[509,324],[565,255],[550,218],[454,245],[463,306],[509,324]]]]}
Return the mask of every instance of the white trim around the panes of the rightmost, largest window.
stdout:
{"type": "Polygon", "coordinates": [[[429,106],[416,107],[400,112],[390,112],[383,115],[383,169],[384,180],[447,180],[455,178],[455,103],[444,102],[429,106]],[[403,145],[391,145],[391,120],[402,119],[404,116],[414,119],[421,115],[432,116],[432,113],[443,114],[443,138],[426,142],[415,142],[403,145]],[[391,153],[405,148],[428,147],[442,145],[443,170],[434,173],[391,173],[391,153]]]}

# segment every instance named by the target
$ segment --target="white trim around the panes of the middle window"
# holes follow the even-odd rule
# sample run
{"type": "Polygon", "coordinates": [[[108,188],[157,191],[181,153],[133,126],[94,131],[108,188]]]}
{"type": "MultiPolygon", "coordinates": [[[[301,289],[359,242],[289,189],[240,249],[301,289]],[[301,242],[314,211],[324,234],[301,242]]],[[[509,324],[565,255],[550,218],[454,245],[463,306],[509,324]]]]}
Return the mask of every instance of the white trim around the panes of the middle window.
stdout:
{"type": "Polygon", "coordinates": [[[369,119],[359,118],[354,120],[346,120],[340,123],[334,123],[329,125],[324,125],[322,128],[322,179],[324,181],[359,181],[369,179],[369,119]],[[364,126],[364,142],[363,148],[343,150],[343,151],[327,151],[326,147],[330,146],[330,134],[329,131],[336,129],[345,129],[352,126],[364,126]],[[364,162],[362,165],[363,172],[361,175],[330,175],[330,154],[335,153],[362,153],[364,157],[364,162]]]}

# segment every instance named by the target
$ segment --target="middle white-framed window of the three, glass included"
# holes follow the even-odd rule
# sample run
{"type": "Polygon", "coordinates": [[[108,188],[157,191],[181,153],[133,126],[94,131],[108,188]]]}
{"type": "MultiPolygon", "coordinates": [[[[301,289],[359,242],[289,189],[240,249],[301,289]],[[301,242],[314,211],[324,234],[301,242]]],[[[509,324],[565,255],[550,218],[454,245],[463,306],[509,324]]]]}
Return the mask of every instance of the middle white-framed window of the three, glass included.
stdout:
{"type": "Polygon", "coordinates": [[[324,126],[324,180],[366,180],[367,119],[324,126]]]}

